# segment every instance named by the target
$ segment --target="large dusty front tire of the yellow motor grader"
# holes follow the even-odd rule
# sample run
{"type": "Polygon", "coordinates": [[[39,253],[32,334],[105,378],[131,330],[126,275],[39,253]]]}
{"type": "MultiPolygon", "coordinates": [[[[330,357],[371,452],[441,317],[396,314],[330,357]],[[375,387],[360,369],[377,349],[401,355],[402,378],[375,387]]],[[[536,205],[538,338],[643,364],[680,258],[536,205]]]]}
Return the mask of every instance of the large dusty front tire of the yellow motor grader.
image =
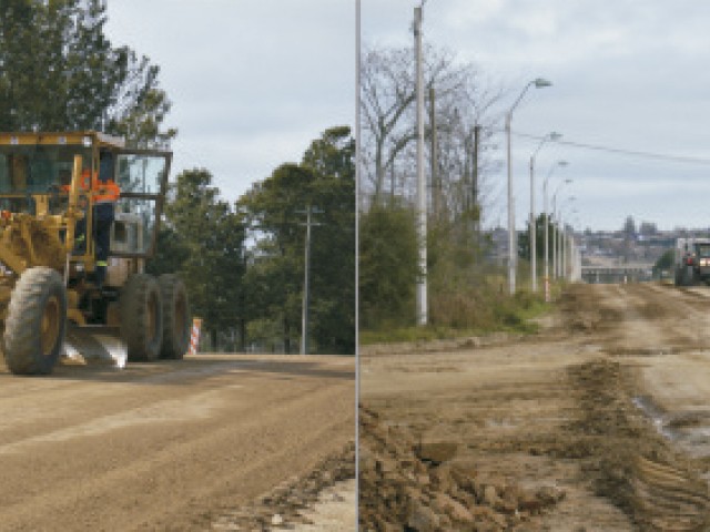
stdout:
{"type": "Polygon", "coordinates": [[[51,374],[67,332],[67,290],[52,268],[26,269],[10,296],[2,350],[16,375],[51,374]]]}

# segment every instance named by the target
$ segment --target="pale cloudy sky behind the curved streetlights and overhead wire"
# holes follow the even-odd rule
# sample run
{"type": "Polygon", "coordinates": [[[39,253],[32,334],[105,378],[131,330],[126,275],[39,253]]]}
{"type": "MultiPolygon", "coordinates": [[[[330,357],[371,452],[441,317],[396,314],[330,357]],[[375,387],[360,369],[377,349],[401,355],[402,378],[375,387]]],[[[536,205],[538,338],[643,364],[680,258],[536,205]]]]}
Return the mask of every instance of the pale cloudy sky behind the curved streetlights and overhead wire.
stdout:
{"type": "MultiPolygon", "coordinates": [[[[363,0],[364,42],[410,45],[416,4],[363,0]]],[[[556,131],[574,144],[670,156],[546,144],[537,157],[538,212],[542,177],[565,160],[569,165],[552,173],[550,188],[574,180],[558,202],[574,195],[566,217],[595,229],[620,228],[627,215],[661,229],[710,227],[709,27],[710,3],[694,0],[428,0],[424,7],[425,40],[500,81],[509,89],[505,105],[535,78],[554,83],[528,91],[514,132],[556,131]]],[[[529,213],[527,165],[537,145],[514,136],[519,227],[529,213]]],[[[499,200],[488,222],[505,226],[505,168],[491,181],[499,200]]]]}

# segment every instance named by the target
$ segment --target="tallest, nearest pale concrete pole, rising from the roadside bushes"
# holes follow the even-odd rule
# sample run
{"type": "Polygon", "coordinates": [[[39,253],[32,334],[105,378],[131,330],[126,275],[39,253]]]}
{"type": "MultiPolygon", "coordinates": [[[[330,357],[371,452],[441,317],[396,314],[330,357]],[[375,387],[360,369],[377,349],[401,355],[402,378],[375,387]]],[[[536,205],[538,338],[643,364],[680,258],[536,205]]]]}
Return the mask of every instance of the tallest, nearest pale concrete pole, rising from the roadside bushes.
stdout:
{"type": "Polygon", "coordinates": [[[419,280],[417,282],[417,324],[428,321],[426,270],[427,194],[424,177],[424,74],[422,65],[422,6],[414,8],[414,40],[417,90],[417,229],[419,241],[419,280]]]}

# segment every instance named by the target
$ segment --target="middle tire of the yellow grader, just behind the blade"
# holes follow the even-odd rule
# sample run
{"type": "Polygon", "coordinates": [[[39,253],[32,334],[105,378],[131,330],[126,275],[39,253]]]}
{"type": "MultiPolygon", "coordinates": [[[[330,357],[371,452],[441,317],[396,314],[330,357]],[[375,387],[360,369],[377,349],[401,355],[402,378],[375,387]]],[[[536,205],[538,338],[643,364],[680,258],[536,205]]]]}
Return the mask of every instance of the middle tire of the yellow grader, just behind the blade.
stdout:
{"type": "Polygon", "coordinates": [[[119,298],[121,338],[131,362],[158,359],[163,340],[163,306],[155,278],[134,274],[121,288],[119,298]]]}

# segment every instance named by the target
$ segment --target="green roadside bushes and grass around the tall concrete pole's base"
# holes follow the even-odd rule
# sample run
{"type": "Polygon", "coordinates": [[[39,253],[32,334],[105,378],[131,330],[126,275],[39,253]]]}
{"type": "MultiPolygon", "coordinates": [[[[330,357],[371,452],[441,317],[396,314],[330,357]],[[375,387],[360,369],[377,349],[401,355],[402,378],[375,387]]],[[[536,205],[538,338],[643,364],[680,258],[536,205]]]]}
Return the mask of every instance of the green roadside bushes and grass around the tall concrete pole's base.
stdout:
{"type": "Polygon", "coordinates": [[[547,310],[541,295],[504,290],[505,276],[489,263],[489,238],[465,217],[429,224],[428,324],[414,327],[417,237],[414,213],[375,206],[361,216],[361,341],[415,341],[531,332],[529,318],[547,310]]]}

